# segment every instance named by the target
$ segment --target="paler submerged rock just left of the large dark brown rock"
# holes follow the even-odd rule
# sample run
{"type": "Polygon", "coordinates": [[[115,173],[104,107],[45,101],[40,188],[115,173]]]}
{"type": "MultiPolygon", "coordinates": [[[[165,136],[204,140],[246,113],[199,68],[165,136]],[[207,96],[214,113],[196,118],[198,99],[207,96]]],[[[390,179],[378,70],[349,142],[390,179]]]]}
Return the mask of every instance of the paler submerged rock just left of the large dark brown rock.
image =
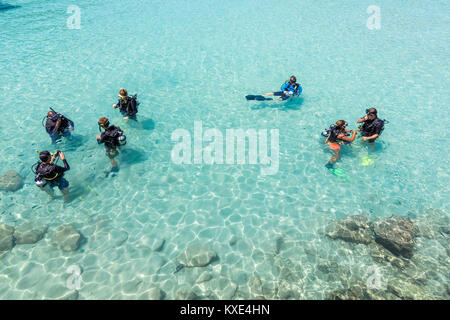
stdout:
{"type": "Polygon", "coordinates": [[[367,214],[349,215],[342,220],[334,221],[327,236],[331,239],[369,244],[373,240],[370,217],[367,214]]]}

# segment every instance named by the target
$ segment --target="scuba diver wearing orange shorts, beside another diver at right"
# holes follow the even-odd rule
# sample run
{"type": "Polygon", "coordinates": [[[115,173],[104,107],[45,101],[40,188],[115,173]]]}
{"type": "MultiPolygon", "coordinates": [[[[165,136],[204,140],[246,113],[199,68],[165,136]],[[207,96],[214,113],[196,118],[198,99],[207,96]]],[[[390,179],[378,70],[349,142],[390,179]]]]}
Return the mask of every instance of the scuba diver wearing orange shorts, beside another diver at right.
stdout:
{"type": "Polygon", "coordinates": [[[341,144],[349,144],[355,140],[356,130],[347,130],[348,123],[344,120],[336,121],[335,125],[330,126],[329,129],[322,132],[323,136],[327,139],[325,142],[328,143],[330,149],[334,151],[334,156],[326,164],[327,168],[332,168],[334,163],[339,159],[339,153],[341,151],[341,144]],[[350,132],[352,132],[351,138],[349,138],[350,132]]]}

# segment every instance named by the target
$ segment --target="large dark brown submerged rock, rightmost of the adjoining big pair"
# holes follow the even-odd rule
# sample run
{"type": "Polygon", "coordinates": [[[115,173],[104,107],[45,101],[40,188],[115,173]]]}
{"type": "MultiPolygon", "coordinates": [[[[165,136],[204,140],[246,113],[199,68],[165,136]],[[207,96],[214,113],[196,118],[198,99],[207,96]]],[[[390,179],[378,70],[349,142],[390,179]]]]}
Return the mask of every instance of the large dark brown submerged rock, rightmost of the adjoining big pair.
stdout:
{"type": "Polygon", "coordinates": [[[408,218],[392,216],[373,224],[375,241],[398,256],[411,258],[414,250],[414,225],[408,218]]]}

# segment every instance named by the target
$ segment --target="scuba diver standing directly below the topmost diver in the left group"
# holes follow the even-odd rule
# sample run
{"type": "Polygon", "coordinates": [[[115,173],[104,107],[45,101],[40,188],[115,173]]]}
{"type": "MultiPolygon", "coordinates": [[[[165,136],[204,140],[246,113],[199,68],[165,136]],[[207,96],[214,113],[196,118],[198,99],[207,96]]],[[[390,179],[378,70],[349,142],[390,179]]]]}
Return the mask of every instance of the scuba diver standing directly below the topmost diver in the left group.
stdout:
{"type": "Polygon", "coordinates": [[[97,135],[97,143],[105,144],[106,156],[111,160],[113,171],[118,171],[119,166],[114,158],[119,154],[117,148],[125,145],[127,138],[119,127],[110,126],[109,120],[106,117],[101,117],[98,120],[98,130],[101,134],[97,135]],[[105,131],[102,132],[101,128],[105,131]]]}

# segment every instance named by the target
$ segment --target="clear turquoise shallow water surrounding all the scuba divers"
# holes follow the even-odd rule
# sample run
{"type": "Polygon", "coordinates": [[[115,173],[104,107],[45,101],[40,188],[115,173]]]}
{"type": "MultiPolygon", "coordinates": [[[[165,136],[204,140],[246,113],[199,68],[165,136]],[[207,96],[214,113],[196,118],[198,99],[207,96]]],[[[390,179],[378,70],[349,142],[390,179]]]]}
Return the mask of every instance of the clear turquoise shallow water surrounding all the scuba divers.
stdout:
{"type": "MultiPolygon", "coordinates": [[[[66,26],[71,1],[14,4],[0,11],[0,174],[16,170],[24,185],[0,194],[0,224],[71,223],[85,240],[71,253],[47,237],[14,247],[0,266],[0,298],[54,297],[74,264],[83,269],[79,298],[135,298],[149,287],[183,297],[203,269],[173,271],[195,241],[218,256],[207,267],[213,280],[196,290],[251,298],[255,275],[280,279],[281,262],[266,256],[282,237],[280,254],[293,263],[285,268],[302,269],[291,279],[301,283],[294,298],[321,299],[340,282],[318,271],[320,259],[355,279],[373,264],[364,249],[352,247],[352,256],[323,237],[323,226],[362,212],[450,211],[448,1],[379,1],[380,30],[366,27],[371,1],[284,1],[285,9],[254,0],[77,1],[79,30],[66,26]],[[291,74],[303,86],[299,100],[245,101],[291,74]],[[138,125],[111,107],[121,87],[139,94],[138,125]],[[41,127],[49,106],[76,125],[74,141],[58,146],[72,167],[66,205],[39,192],[29,169],[36,149],[54,149],[41,127]],[[390,123],[373,150],[360,140],[344,147],[337,167],[348,179],[333,176],[320,132],[338,119],[355,128],[369,106],[390,123]],[[95,140],[100,116],[127,130],[115,176],[105,177],[110,163],[95,140]],[[171,134],[193,134],[194,121],[223,133],[278,129],[277,174],[173,163],[171,134]],[[364,166],[368,155],[374,162],[364,166]],[[148,249],[155,238],[165,240],[161,251],[148,249]]],[[[437,246],[429,252],[442,254],[448,271],[448,248],[423,245],[437,246]]],[[[443,297],[435,282],[426,286],[443,297]]]]}

